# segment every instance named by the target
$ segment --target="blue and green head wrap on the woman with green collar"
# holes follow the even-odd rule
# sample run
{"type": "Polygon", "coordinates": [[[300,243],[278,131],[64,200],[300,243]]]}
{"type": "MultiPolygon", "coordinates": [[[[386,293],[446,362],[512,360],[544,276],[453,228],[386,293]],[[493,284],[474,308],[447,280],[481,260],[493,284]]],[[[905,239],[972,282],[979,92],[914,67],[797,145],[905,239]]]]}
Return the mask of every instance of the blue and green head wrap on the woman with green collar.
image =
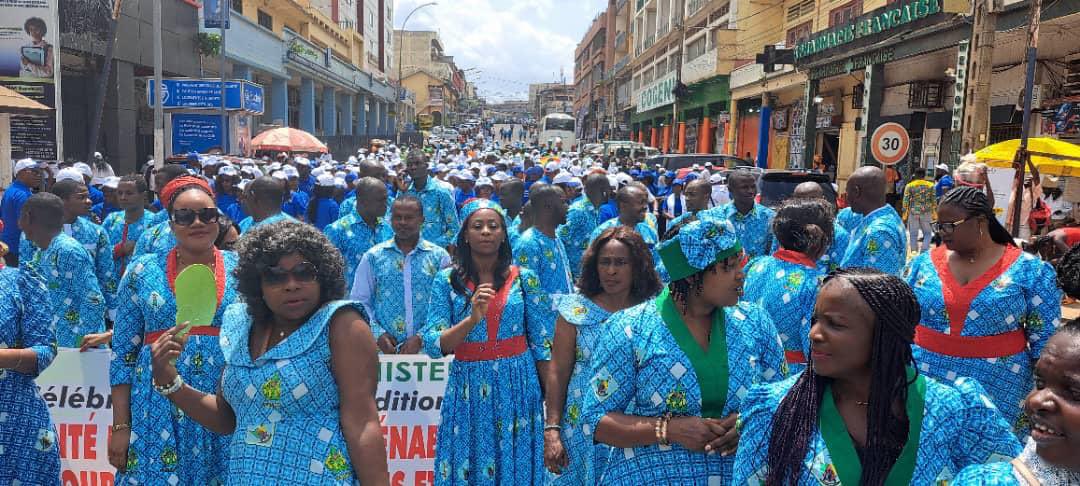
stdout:
{"type": "Polygon", "coordinates": [[[660,259],[672,282],[693,275],[739,253],[742,245],[726,219],[706,218],[679,229],[675,238],[660,244],[660,259]]]}

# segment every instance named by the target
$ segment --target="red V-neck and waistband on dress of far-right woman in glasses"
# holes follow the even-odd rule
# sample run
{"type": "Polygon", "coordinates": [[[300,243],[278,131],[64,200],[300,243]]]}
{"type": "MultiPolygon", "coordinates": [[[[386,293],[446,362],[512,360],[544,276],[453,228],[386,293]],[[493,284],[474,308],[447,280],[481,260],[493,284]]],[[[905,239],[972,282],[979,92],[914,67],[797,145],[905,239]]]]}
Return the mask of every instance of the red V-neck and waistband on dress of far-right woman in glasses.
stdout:
{"type": "Polygon", "coordinates": [[[1020,248],[1013,245],[1005,246],[1001,258],[986,273],[968,282],[967,285],[960,285],[948,268],[948,254],[945,247],[939,246],[932,249],[930,259],[942,281],[942,297],[948,311],[949,333],[941,333],[920,324],[915,328],[915,343],[929,351],[956,357],[1002,357],[1026,350],[1027,336],[1021,328],[993,336],[961,336],[971,302],[987,285],[1001,276],[1020,258],[1020,248]]]}

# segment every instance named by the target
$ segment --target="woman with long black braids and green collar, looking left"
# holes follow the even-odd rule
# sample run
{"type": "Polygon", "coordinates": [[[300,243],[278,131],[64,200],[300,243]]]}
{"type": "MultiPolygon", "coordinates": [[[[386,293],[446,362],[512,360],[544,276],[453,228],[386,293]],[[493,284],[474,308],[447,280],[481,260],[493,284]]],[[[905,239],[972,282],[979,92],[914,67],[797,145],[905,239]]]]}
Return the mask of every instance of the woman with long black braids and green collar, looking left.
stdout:
{"type": "Polygon", "coordinates": [[[745,399],[731,484],[934,484],[1015,455],[1016,437],[977,382],[943,384],[913,367],[919,314],[896,276],[831,273],[809,367],[745,399]]]}

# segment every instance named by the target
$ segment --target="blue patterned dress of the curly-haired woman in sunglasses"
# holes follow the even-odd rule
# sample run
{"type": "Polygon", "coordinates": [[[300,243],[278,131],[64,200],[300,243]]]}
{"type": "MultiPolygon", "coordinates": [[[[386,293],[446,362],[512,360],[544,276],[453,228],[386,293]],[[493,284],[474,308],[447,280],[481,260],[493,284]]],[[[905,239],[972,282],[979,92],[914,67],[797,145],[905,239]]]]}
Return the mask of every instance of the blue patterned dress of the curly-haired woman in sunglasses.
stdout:
{"type": "Polygon", "coordinates": [[[225,311],[221,394],[237,416],[237,430],[226,437],[227,484],[356,484],[330,368],[330,321],[342,307],[364,312],[354,302],[328,302],[255,360],[247,306],[225,311]]]}

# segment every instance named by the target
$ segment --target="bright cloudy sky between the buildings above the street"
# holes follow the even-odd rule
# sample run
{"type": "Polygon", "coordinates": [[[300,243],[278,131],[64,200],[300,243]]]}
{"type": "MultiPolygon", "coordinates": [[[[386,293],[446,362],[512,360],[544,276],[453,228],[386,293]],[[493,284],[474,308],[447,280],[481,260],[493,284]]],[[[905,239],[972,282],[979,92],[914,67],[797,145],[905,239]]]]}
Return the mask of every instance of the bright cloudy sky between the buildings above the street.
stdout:
{"type": "MultiPolygon", "coordinates": [[[[573,49],[607,0],[436,0],[408,30],[435,30],[488,103],[527,99],[529,83],[573,82],[573,49]]],[[[394,0],[394,28],[424,0],[394,0]]]]}

